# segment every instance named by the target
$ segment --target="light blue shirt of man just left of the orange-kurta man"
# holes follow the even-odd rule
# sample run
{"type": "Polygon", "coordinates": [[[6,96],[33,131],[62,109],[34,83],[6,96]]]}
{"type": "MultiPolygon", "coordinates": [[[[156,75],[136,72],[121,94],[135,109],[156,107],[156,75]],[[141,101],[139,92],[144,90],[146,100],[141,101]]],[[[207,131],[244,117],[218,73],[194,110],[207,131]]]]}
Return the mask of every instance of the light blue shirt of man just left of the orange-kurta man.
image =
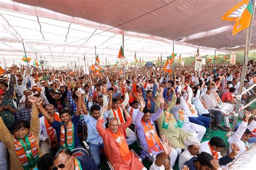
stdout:
{"type": "MultiPolygon", "coordinates": [[[[104,118],[106,119],[108,115],[109,115],[109,110],[106,110],[104,112],[104,118]]],[[[86,141],[94,145],[102,144],[103,143],[102,137],[99,136],[99,133],[96,129],[97,119],[93,118],[89,114],[87,115],[84,114],[83,117],[84,117],[84,121],[86,122],[87,133],[88,133],[86,141]]],[[[103,124],[103,127],[105,128],[105,124],[103,124]]]]}

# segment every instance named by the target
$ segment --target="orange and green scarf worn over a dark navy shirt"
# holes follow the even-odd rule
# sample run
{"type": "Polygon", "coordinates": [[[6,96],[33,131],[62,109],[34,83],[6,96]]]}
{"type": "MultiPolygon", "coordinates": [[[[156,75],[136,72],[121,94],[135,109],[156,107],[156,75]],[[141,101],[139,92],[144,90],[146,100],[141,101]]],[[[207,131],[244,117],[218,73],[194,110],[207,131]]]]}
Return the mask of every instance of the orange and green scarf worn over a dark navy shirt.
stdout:
{"type": "Polygon", "coordinates": [[[60,140],[59,146],[60,148],[68,147],[71,151],[75,148],[74,141],[74,125],[72,121],[69,121],[69,124],[66,126],[66,139],[65,139],[65,125],[62,124],[60,126],[60,140]]]}

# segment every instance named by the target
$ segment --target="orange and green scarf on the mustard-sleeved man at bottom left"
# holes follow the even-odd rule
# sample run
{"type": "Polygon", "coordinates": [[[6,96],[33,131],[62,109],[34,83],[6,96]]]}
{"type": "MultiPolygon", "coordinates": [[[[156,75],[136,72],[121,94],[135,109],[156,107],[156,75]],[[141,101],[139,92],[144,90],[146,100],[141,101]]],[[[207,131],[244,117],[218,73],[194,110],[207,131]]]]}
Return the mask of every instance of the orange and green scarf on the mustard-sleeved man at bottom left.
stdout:
{"type": "Polygon", "coordinates": [[[14,147],[23,169],[34,168],[39,160],[36,137],[29,132],[25,137],[25,143],[22,139],[14,138],[14,147]]]}

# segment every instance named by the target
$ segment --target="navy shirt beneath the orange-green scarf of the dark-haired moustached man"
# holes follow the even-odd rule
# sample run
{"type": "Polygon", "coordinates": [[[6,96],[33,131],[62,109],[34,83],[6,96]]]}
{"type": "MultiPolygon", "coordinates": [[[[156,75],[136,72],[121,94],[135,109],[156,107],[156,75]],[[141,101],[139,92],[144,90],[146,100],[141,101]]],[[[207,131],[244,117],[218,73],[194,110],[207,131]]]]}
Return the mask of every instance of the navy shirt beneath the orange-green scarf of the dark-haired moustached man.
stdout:
{"type": "MultiPolygon", "coordinates": [[[[80,140],[78,137],[78,130],[77,130],[77,123],[79,121],[80,116],[76,116],[74,115],[71,118],[71,121],[73,123],[74,126],[74,138],[75,138],[75,148],[78,146],[78,144],[80,145],[80,140]]],[[[50,125],[52,126],[53,129],[56,130],[56,134],[57,134],[57,140],[58,140],[58,147],[59,147],[59,139],[60,139],[60,127],[62,126],[61,122],[58,121],[53,121],[52,123],[50,123],[50,125]]],[[[66,126],[64,125],[64,129],[65,129],[65,142],[66,142],[66,126]]]]}

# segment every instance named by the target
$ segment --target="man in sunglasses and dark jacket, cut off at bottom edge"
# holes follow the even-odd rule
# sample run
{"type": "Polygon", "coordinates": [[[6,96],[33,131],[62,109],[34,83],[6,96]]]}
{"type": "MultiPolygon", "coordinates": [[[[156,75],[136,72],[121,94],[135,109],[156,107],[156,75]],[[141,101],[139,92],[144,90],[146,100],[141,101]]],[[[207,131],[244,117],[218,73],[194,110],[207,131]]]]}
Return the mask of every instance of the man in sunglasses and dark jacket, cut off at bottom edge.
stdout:
{"type": "Polygon", "coordinates": [[[53,158],[53,170],[64,168],[69,170],[98,169],[92,158],[87,155],[73,157],[69,148],[60,149],[53,158]]]}

